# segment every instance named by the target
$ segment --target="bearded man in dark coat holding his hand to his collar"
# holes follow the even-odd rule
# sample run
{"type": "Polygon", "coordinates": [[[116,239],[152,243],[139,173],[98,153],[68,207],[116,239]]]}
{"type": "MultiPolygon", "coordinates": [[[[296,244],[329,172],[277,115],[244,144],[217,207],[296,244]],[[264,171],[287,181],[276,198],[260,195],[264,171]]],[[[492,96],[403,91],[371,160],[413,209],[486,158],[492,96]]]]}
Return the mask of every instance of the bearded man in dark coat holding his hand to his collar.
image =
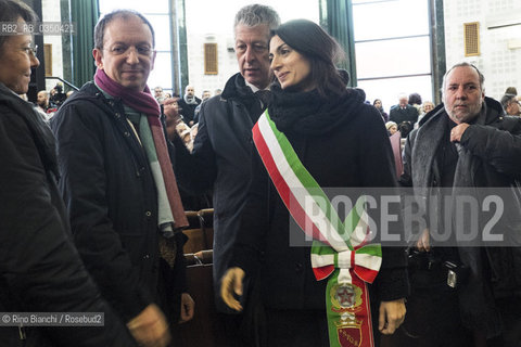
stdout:
{"type": "MultiPolygon", "coordinates": [[[[421,210],[436,210],[427,215],[429,222],[416,247],[456,265],[456,277],[465,273],[461,269],[469,269],[467,280],[465,275],[447,279],[442,271],[440,285],[419,308],[423,314],[418,322],[431,331],[422,338],[433,346],[519,346],[521,342],[521,201],[512,189],[521,177],[521,120],[505,116],[497,101],[485,98],[483,81],[475,66],[453,66],[444,76],[443,104],[421,120],[404,152],[401,183],[414,187],[421,210]],[[493,233],[500,231],[511,242],[509,247],[475,240],[463,243],[463,236],[476,229],[468,228],[475,218],[458,211],[457,200],[469,193],[483,198],[486,188],[494,188],[494,194],[505,201],[505,211],[493,233]],[[449,198],[439,198],[434,206],[436,196],[449,198]],[[457,288],[447,286],[447,281],[457,288]]],[[[486,211],[475,215],[480,239],[486,236],[481,219],[486,211]]],[[[440,271],[431,271],[434,282],[437,275],[440,271]]],[[[412,301],[415,296],[409,304],[412,301]]]]}

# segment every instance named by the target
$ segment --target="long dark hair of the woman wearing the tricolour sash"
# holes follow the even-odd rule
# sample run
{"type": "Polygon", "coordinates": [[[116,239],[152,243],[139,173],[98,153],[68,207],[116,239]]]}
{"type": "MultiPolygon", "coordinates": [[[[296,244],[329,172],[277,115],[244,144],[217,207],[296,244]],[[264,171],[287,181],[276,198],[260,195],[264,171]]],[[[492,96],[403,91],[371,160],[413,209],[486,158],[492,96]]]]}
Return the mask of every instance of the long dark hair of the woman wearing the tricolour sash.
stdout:
{"type": "Polygon", "coordinates": [[[310,80],[316,83],[320,95],[345,93],[348,75],[335,66],[335,63],[345,57],[345,53],[334,38],[318,24],[307,20],[294,20],[282,24],[271,34],[278,35],[284,43],[309,60],[310,80]]]}

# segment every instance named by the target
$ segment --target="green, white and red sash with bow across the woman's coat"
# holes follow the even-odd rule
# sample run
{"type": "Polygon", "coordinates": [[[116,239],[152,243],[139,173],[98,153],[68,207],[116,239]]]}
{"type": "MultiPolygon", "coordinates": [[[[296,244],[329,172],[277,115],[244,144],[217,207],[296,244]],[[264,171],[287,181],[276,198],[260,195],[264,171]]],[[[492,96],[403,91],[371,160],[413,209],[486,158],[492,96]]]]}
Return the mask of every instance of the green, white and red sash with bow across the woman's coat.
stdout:
{"type": "Polygon", "coordinates": [[[253,127],[253,140],[285,207],[314,240],[315,277],[329,278],[326,306],[330,346],[374,346],[367,283],[372,283],[380,270],[382,252],[380,244],[368,244],[364,197],[342,222],[268,111],[253,127]]]}

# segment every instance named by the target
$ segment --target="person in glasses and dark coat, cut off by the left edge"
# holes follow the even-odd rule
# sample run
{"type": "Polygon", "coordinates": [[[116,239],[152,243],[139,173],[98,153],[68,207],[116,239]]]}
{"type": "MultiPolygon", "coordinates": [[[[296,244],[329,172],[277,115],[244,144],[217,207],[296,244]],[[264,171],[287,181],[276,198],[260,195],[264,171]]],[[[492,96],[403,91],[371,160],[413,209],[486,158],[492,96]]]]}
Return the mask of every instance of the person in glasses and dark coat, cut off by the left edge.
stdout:
{"type": "MultiPolygon", "coordinates": [[[[0,9],[2,23],[37,21],[21,1],[0,0],[0,9]]],[[[54,138],[17,95],[27,92],[30,69],[38,65],[30,35],[0,36],[0,345],[137,346],[101,298],[71,240],[56,187],[54,138]],[[14,312],[104,313],[104,324],[12,324],[14,312]]],[[[38,318],[50,318],[42,314],[38,318]]]]}

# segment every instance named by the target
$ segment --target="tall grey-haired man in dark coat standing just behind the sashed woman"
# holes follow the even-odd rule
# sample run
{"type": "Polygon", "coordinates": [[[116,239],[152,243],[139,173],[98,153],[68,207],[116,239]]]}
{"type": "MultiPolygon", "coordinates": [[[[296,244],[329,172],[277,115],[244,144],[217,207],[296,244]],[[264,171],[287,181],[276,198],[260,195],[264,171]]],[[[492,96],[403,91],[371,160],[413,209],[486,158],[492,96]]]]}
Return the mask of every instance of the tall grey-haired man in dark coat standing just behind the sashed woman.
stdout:
{"type": "Polygon", "coordinates": [[[180,184],[200,193],[213,189],[214,288],[217,308],[224,312],[229,309],[218,297],[219,281],[229,265],[250,183],[252,128],[266,107],[266,101],[262,102],[255,92],[263,92],[270,82],[269,33],[279,23],[278,14],[265,5],[246,5],[237,13],[234,36],[240,73],[227,81],[220,95],[201,106],[191,156],[180,140],[174,139],[180,184]]]}

